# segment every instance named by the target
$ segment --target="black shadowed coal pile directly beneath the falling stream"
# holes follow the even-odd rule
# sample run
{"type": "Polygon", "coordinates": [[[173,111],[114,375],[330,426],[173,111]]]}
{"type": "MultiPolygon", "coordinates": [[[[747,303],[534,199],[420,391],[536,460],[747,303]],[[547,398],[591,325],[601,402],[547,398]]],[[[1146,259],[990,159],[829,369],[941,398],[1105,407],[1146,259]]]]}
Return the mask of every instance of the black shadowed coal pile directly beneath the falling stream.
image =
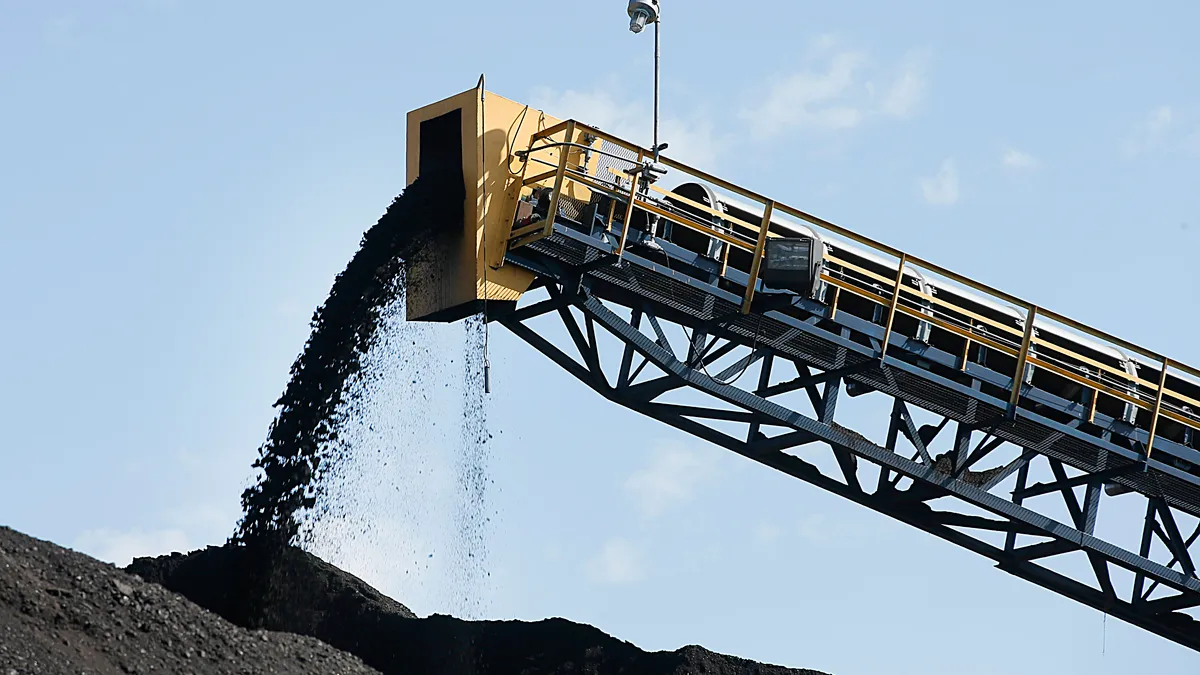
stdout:
{"type": "Polygon", "coordinates": [[[646,652],[590,626],[416,619],[361,579],[299,549],[280,558],[266,608],[247,608],[253,561],[246,548],[210,546],[188,555],[138,558],[127,571],[248,626],[320,639],[385,674],[404,675],[821,675],[763,665],[689,646],[646,652]],[[266,619],[263,619],[266,617],[266,619]],[[257,626],[256,626],[257,627],[257,626]]]}

